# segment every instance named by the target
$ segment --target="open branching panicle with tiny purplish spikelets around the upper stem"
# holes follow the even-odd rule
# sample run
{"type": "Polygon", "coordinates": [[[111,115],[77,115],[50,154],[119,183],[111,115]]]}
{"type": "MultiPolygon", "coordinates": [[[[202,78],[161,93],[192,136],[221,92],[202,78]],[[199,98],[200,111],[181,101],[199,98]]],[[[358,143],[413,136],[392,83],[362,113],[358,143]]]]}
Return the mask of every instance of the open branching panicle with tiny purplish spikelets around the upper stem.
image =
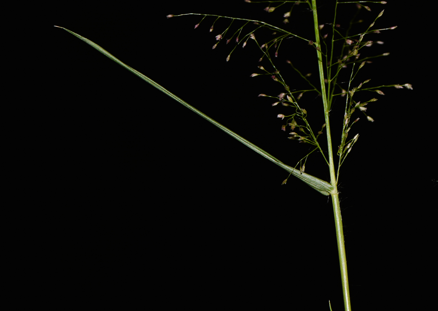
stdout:
{"type": "MultiPolygon", "coordinates": [[[[251,3],[250,0],[245,0],[245,2],[251,3]]],[[[278,8],[279,6],[287,3],[287,2],[281,3],[281,1],[270,1],[269,5],[267,7],[264,7],[263,9],[269,14],[270,13],[274,15],[279,14],[279,21],[282,21],[283,24],[286,25],[291,21],[295,20],[292,17],[293,7],[299,5],[300,2],[302,1],[292,3],[292,5],[289,7],[290,10],[286,12],[285,11],[279,12],[279,10],[276,10],[276,8],[278,8]],[[279,3],[279,5],[274,6],[276,5],[276,3],[279,3]]],[[[367,14],[374,14],[374,12],[371,10],[370,7],[362,3],[363,2],[356,3],[358,10],[364,8],[365,10],[371,12],[367,14]]],[[[376,3],[376,2],[372,2],[372,3],[376,3]]],[[[386,1],[380,1],[380,3],[385,4],[386,1]]],[[[310,5],[310,2],[307,1],[307,4],[310,5]]],[[[292,131],[298,129],[298,132],[300,133],[298,135],[297,132],[290,132],[287,138],[289,140],[297,140],[300,143],[313,145],[314,150],[312,150],[310,153],[312,153],[315,150],[319,150],[322,156],[324,157],[325,161],[327,161],[324,155],[325,151],[321,149],[321,146],[318,143],[318,136],[323,135],[325,133],[323,129],[326,126],[327,122],[324,123],[321,130],[313,131],[307,121],[308,112],[304,107],[301,106],[301,102],[303,101],[303,99],[301,98],[303,98],[304,94],[307,94],[309,92],[316,92],[318,94],[318,97],[322,97],[325,99],[325,101],[327,102],[328,110],[330,110],[331,105],[334,102],[334,98],[336,96],[345,98],[346,108],[344,112],[344,118],[342,121],[343,134],[341,138],[341,144],[338,146],[339,167],[340,167],[346,155],[351,152],[353,144],[356,143],[357,137],[359,135],[356,134],[352,140],[348,140],[348,135],[350,130],[352,129],[353,124],[355,124],[360,120],[360,118],[357,117],[357,115],[353,115],[353,114],[363,113],[368,121],[374,122],[374,119],[371,116],[367,115],[367,112],[369,110],[368,109],[369,107],[367,105],[368,103],[377,101],[377,98],[369,99],[366,96],[362,96],[369,94],[367,92],[364,93],[363,91],[373,91],[378,93],[379,95],[385,95],[385,93],[381,91],[382,87],[395,87],[397,89],[406,88],[410,90],[413,89],[411,84],[392,84],[392,85],[383,85],[379,87],[374,87],[374,86],[367,87],[368,86],[367,83],[370,82],[371,79],[362,80],[362,82],[356,83],[355,79],[359,77],[358,71],[362,70],[366,64],[372,63],[370,59],[379,56],[389,55],[389,52],[385,52],[377,56],[366,56],[365,55],[367,54],[366,52],[360,51],[361,49],[364,48],[364,46],[370,48],[373,44],[378,44],[378,45],[384,44],[384,42],[381,40],[374,40],[374,37],[372,38],[373,40],[367,40],[368,37],[371,37],[371,35],[380,36],[380,34],[385,30],[393,30],[397,28],[397,26],[392,26],[389,28],[378,28],[379,26],[378,18],[383,16],[384,11],[385,10],[381,10],[378,14],[374,14],[374,21],[372,21],[371,24],[368,23],[361,24],[363,20],[355,20],[354,18],[356,17],[353,18],[349,26],[347,25],[341,27],[341,25],[336,24],[335,21],[333,21],[333,23],[315,24],[315,33],[318,34],[317,38],[303,38],[299,35],[291,33],[290,31],[267,24],[262,21],[251,21],[251,20],[242,20],[238,18],[231,18],[228,27],[226,27],[222,32],[215,34],[216,42],[212,46],[212,49],[215,49],[224,38],[226,39],[225,40],[226,45],[234,42],[233,39],[235,38],[234,47],[226,57],[226,61],[228,62],[230,60],[231,53],[234,51],[237,45],[241,44],[242,48],[244,48],[250,42],[251,42],[250,45],[253,45],[252,42],[254,42],[255,45],[257,45],[258,47],[258,52],[260,53],[258,61],[264,62],[263,65],[258,66],[258,69],[264,72],[258,71],[258,73],[252,73],[249,76],[250,77],[269,76],[271,78],[270,80],[275,82],[278,86],[280,86],[281,84],[281,87],[283,87],[285,90],[284,92],[280,93],[277,96],[272,96],[269,94],[259,94],[258,96],[276,98],[275,102],[273,103],[272,101],[270,102],[271,106],[272,107],[281,106],[282,109],[286,109],[286,111],[289,112],[288,114],[276,113],[277,118],[280,118],[282,120],[286,119],[286,125],[283,124],[281,126],[282,131],[286,132],[286,126],[290,126],[290,129],[292,131]],[[227,31],[231,29],[230,26],[231,24],[233,24],[234,21],[237,22],[244,21],[244,24],[240,24],[240,26],[237,26],[237,29],[235,29],[235,31],[233,30],[234,32],[230,32],[232,33],[232,35],[227,35],[227,31]],[[353,24],[359,24],[360,27],[362,27],[360,33],[355,35],[350,34],[350,29],[353,24]],[[258,29],[260,28],[271,30],[272,37],[265,38],[263,33],[256,36],[255,32],[257,32],[258,29]],[[272,32],[272,30],[274,32],[272,32]],[[321,33],[322,31],[324,31],[325,33],[322,34],[321,33]],[[292,38],[296,38],[296,40],[294,41],[290,40],[292,38]],[[260,42],[258,40],[260,40],[260,42]],[[321,87],[319,87],[318,84],[315,83],[318,82],[318,79],[314,77],[315,75],[312,75],[311,72],[308,73],[302,72],[300,68],[294,66],[289,60],[286,60],[286,63],[290,65],[290,69],[291,69],[290,72],[287,74],[290,75],[290,73],[296,73],[303,80],[303,82],[306,83],[306,86],[300,86],[298,83],[295,83],[293,87],[289,87],[289,85],[286,83],[283,77],[284,73],[283,72],[280,73],[280,70],[278,70],[276,67],[277,65],[274,64],[274,59],[278,59],[279,57],[279,48],[283,40],[287,40],[285,42],[288,42],[289,45],[298,46],[297,43],[306,43],[307,49],[309,49],[308,50],[309,53],[310,52],[314,53],[316,51],[316,55],[321,59],[323,59],[325,68],[323,68],[322,70],[320,68],[319,80],[320,80],[320,84],[324,85],[326,88],[325,93],[321,89],[322,85],[321,87]],[[321,41],[323,42],[323,44],[320,43],[321,41]],[[337,50],[338,48],[335,48],[334,45],[338,43],[339,43],[340,52],[338,55],[334,56],[333,55],[334,51],[338,51],[337,50]],[[346,69],[349,69],[350,71],[347,72],[346,69]],[[342,77],[343,81],[345,82],[338,82],[338,79],[340,77],[342,77]]],[[[173,16],[174,15],[168,15],[167,18],[173,16]]],[[[221,17],[218,15],[203,15],[201,21],[198,24],[196,24],[194,28],[199,28],[204,18],[208,16],[216,17],[215,21],[209,28],[209,32],[212,32],[214,30],[215,22],[219,18],[228,19],[228,17],[221,17]]],[[[300,66],[302,66],[302,63],[299,63],[299,67],[300,66]]],[[[362,71],[360,74],[362,74],[362,71]]],[[[311,99],[311,97],[309,97],[309,99],[311,99]]],[[[286,111],[281,111],[281,112],[286,112],[286,111]]],[[[312,114],[311,111],[310,114],[312,114]]],[[[309,154],[307,154],[307,156],[308,155],[309,154]]],[[[301,161],[304,160],[304,164],[300,165],[301,173],[304,172],[305,161],[307,160],[307,156],[301,159],[299,162],[301,163],[301,161]]],[[[287,179],[283,181],[283,184],[285,184],[286,181],[287,179]]]]}

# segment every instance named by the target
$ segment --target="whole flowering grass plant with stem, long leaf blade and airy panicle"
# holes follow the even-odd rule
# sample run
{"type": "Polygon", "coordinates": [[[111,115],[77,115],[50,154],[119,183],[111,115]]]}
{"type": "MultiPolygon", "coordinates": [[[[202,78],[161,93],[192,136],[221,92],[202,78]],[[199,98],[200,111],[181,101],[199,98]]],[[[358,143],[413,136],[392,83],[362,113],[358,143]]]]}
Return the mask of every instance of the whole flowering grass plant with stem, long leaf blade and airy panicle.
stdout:
{"type": "MultiPolygon", "coordinates": [[[[278,95],[276,93],[267,93],[259,94],[258,96],[261,98],[272,98],[272,109],[276,109],[276,116],[279,119],[278,127],[284,133],[288,133],[287,139],[292,140],[297,145],[300,143],[305,148],[309,148],[309,152],[304,157],[293,160],[293,165],[283,163],[267,151],[208,117],[144,74],[121,62],[94,42],[73,31],[64,29],[219,127],[233,138],[244,143],[269,161],[284,168],[289,172],[289,176],[281,183],[283,187],[287,186],[286,183],[290,176],[294,176],[322,195],[330,196],[335,218],[344,308],[346,311],[351,310],[343,224],[339,203],[340,168],[344,163],[348,163],[345,160],[352,152],[354,153],[353,146],[358,142],[359,133],[355,132],[354,125],[357,122],[368,122],[369,127],[372,128],[374,122],[371,116],[374,109],[373,103],[381,98],[381,96],[385,96],[385,88],[395,87],[412,90],[412,85],[406,83],[406,81],[397,81],[401,84],[374,85],[372,77],[370,77],[371,74],[366,71],[369,63],[378,61],[375,58],[389,55],[389,52],[378,55],[373,54],[373,49],[370,49],[371,45],[381,43],[379,40],[374,39],[374,36],[383,31],[394,31],[396,26],[379,27],[379,22],[384,18],[384,10],[383,8],[380,10],[378,6],[385,4],[385,1],[337,1],[332,21],[328,24],[321,24],[318,21],[318,5],[316,0],[246,2],[256,3],[255,5],[258,5],[257,3],[267,5],[264,10],[268,14],[277,14],[280,25],[214,14],[170,14],[167,17],[199,15],[199,22],[194,25],[195,31],[199,31],[202,28],[209,29],[209,32],[215,36],[215,44],[212,46],[212,49],[220,51],[222,45],[233,45],[231,51],[227,52],[227,55],[223,57],[224,62],[232,62],[234,53],[237,53],[239,49],[254,48],[254,45],[256,46],[260,54],[259,62],[262,65],[258,66],[258,71],[251,74],[251,77],[253,79],[274,81],[283,88],[282,93],[278,95]],[[338,24],[336,16],[338,7],[345,5],[345,3],[357,4],[357,11],[352,13],[350,24],[346,27],[338,24]],[[285,27],[283,27],[282,23],[284,25],[293,23],[294,14],[299,14],[297,12],[298,6],[305,6],[307,10],[312,12],[312,30],[314,35],[305,36],[284,29],[285,27]],[[368,6],[371,6],[371,8],[368,6]],[[360,10],[370,11],[370,21],[358,21],[356,19],[355,14],[360,10]],[[228,22],[226,28],[215,26],[216,21],[220,19],[228,22]],[[353,32],[353,25],[357,23],[360,23],[361,30],[353,32]],[[267,31],[271,34],[270,37],[266,35],[267,31]],[[261,32],[260,35],[259,32],[261,32]],[[304,49],[305,53],[313,53],[314,62],[318,65],[318,83],[315,83],[313,78],[311,78],[311,74],[304,71],[306,69],[303,68],[302,64],[296,64],[293,59],[287,60],[285,63],[278,63],[276,61],[279,54],[282,53],[282,44],[284,45],[284,42],[289,40],[304,43],[297,43],[297,46],[304,49]],[[291,73],[295,74],[295,76],[292,76],[291,73]],[[293,77],[293,79],[290,79],[290,77],[293,77]],[[300,82],[297,82],[298,79],[300,79],[300,82]],[[319,98],[322,105],[320,107],[309,108],[308,104],[306,104],[306,98],[312,97],[319,98]],[[345,107],[343,118],[330,118],[330,112],[335,105],[335,101],[337,105],[339,105],[339,101],[343,102],[345,107]],[[311,122],[310,116],[318,114],[324,116],[323,124],[313,124],[311,122]],[[339,129],[339,132],[336,132],[337,129],[339,129]],[[310,164],[307,163],[307,160],[313,153],[321,155],[321,161],[326,164],[327,173],[330,176],[329,181],[323,179],[322,176],[325,174],[322,172],[320,177],[305,172],[306,164],[307,166],[310,164]]],[[[296,29],[300,29],[300,27],[296,29]]]]}

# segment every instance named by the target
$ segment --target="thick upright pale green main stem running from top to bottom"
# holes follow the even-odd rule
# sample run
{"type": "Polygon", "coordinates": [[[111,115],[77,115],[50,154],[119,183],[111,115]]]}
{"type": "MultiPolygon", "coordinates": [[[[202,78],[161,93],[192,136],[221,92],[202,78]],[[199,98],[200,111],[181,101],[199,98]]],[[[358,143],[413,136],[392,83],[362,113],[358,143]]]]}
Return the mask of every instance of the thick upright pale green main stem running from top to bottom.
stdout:
{"type": "MultiPolygon", "coordinates": [[[[318,28],[318,13],[317,13],[316,0],[312,0],[312,12],[313,12],[313,22],[315,29],[315,40],[316,46],[321,49],[319,40],[319,28],[318,28]]],[[[319,68],[319,78],[321,84],[322,102],[324,105],[324,117],[325,117],[325,127],[327,132],[327,145],[329,149],[329,170],[330,170],[330,182],[332,184],[333,190],[330,192],[332,196],[333,203],[333,213],[335,214],[335,227],[336,227],[336,240],[338,242],[338,253],[339,253],[339,266],[341,269],[341,280],[342,280],[342,293],[344,297],[344,308],[345,311],[351,311],[350,303],[350,290],[348,287],[348,274],[347,274],[347,260],[345,255],[345,245],[344,245],[344,234],[342,229],[342,217],[341,208],[339,203],[339,195],[336,187],[336,175],[335,175],[335,165],[333,159],[333,148],[332,148],[332,136],[330,134],[330,120],[329,120],[329,103],[327,98],[327,92],[325,91],[324,83],[324,68],[322,64],[322,53],[317,50],[318,55],[318,68],[319,68]]]]}

